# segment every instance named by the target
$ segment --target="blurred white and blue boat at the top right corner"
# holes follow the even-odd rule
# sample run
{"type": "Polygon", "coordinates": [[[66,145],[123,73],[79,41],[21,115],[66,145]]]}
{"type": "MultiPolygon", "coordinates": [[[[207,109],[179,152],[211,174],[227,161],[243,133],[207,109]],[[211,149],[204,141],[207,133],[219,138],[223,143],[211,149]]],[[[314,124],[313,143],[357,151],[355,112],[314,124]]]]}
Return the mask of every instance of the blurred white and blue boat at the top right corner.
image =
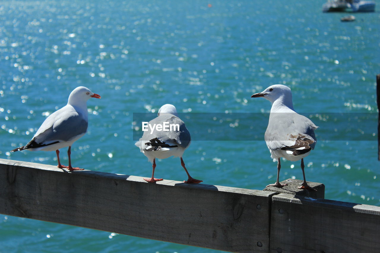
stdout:
{"type": "Polygon", "coordinates": [[[328,0],[322,5],[323,12],[341,12],[351,9],[353,12],[375,11],[374,1],[363,0],[328,0]]]}

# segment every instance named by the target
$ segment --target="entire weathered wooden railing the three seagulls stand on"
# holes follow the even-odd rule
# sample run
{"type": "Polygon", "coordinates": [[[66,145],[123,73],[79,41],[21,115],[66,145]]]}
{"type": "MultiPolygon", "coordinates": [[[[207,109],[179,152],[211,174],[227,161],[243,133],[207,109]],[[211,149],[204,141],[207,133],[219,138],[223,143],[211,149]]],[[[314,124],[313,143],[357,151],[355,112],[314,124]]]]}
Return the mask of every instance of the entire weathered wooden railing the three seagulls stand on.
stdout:
{"type": "Polygon", "coordinates": [[[379,250],[380,207],[289,181],[292,194],[0,159],[0,213],[231,252],[379,250]]]}

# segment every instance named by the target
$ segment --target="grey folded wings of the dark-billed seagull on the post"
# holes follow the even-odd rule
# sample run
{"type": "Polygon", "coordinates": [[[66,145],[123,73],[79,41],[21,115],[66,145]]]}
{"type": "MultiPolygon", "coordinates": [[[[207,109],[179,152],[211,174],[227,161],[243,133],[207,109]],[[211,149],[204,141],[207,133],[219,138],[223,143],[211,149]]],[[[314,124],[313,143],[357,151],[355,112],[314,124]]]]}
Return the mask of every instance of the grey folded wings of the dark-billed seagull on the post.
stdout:
{"type": "Polygon", "coordinates": [[[269,116],[264,139],[271,150],[314,149],[318,126],[296,112],[275,112],[269,116]]]}

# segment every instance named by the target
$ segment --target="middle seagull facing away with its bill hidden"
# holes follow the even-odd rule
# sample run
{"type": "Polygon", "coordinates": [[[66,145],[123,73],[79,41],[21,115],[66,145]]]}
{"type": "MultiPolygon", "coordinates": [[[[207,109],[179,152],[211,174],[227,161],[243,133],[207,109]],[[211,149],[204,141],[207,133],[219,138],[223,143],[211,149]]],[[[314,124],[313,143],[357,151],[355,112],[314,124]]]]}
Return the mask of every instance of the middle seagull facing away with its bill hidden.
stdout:
{"type": "Polygon", "coordinates": [[[181,165],[188,176],[187,181],[184,181],[184,183],[203,182],[202,180],[193,179],[185,167],[182,155],[184,154],[185,149],[190,145],[191,137],[185,123],[178,117],[177,110],[172,104],[164,104],[161,106],[160,110],[158,110],[158,117],[150,120],[148,126],[154,126],[154,124],[162,125],[164,122],[178,125],[179,128],[174,126],[171,130],[169,128],[169,131],[158,131],[157,128],[154,128],[152,131],[148,129],[148,131],[144,132],[142,138],[135,143],[148,160],[153,163],[152,178],[144,178],[144,180],[149,183],[163,180],[154,178],[156,158],[165,159],[174,156],[181,158],[181,165]]]}

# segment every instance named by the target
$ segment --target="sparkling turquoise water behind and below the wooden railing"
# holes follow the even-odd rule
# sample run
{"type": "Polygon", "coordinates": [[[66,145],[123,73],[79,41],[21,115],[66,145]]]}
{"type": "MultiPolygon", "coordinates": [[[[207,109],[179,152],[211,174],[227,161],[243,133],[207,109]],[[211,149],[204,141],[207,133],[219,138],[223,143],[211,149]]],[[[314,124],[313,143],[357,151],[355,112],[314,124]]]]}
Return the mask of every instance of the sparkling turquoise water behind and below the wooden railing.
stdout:
{"type": "MultiPolygon", "coordinates": [[[[0,2],[0,157],[55,165],[55,152],[9,150],[84,85],[102,99],[88,101],[89,131],[73,145],[74,166],[150,176],[133,119],[171,103],[193,115],[184,121],[194,136],[212,128],[212,120],[195,124],[197,115],[233,117],[223,138],[198,135],[186,150],[194,178],[263,189],[277,172],[263,141],[270,103],[250,96],[281,83],[296,111],[320,126],[307,180],[324,183],[327,199],[380,206],[378,11],[342,23],[347,13],[322,13],[324,0],[180,2],[0,2]],[[363,120],[343,131],[349,113],[363,120]]],[[[178,158],[158,161],[155,176],[186,179],[178,158]]],[[[301,179],[299,162],[283,161],[280,179],[290,177],[301,179]]],[[[217,252],[0,215],[1,253],[62,251],[217,252]]]]}

